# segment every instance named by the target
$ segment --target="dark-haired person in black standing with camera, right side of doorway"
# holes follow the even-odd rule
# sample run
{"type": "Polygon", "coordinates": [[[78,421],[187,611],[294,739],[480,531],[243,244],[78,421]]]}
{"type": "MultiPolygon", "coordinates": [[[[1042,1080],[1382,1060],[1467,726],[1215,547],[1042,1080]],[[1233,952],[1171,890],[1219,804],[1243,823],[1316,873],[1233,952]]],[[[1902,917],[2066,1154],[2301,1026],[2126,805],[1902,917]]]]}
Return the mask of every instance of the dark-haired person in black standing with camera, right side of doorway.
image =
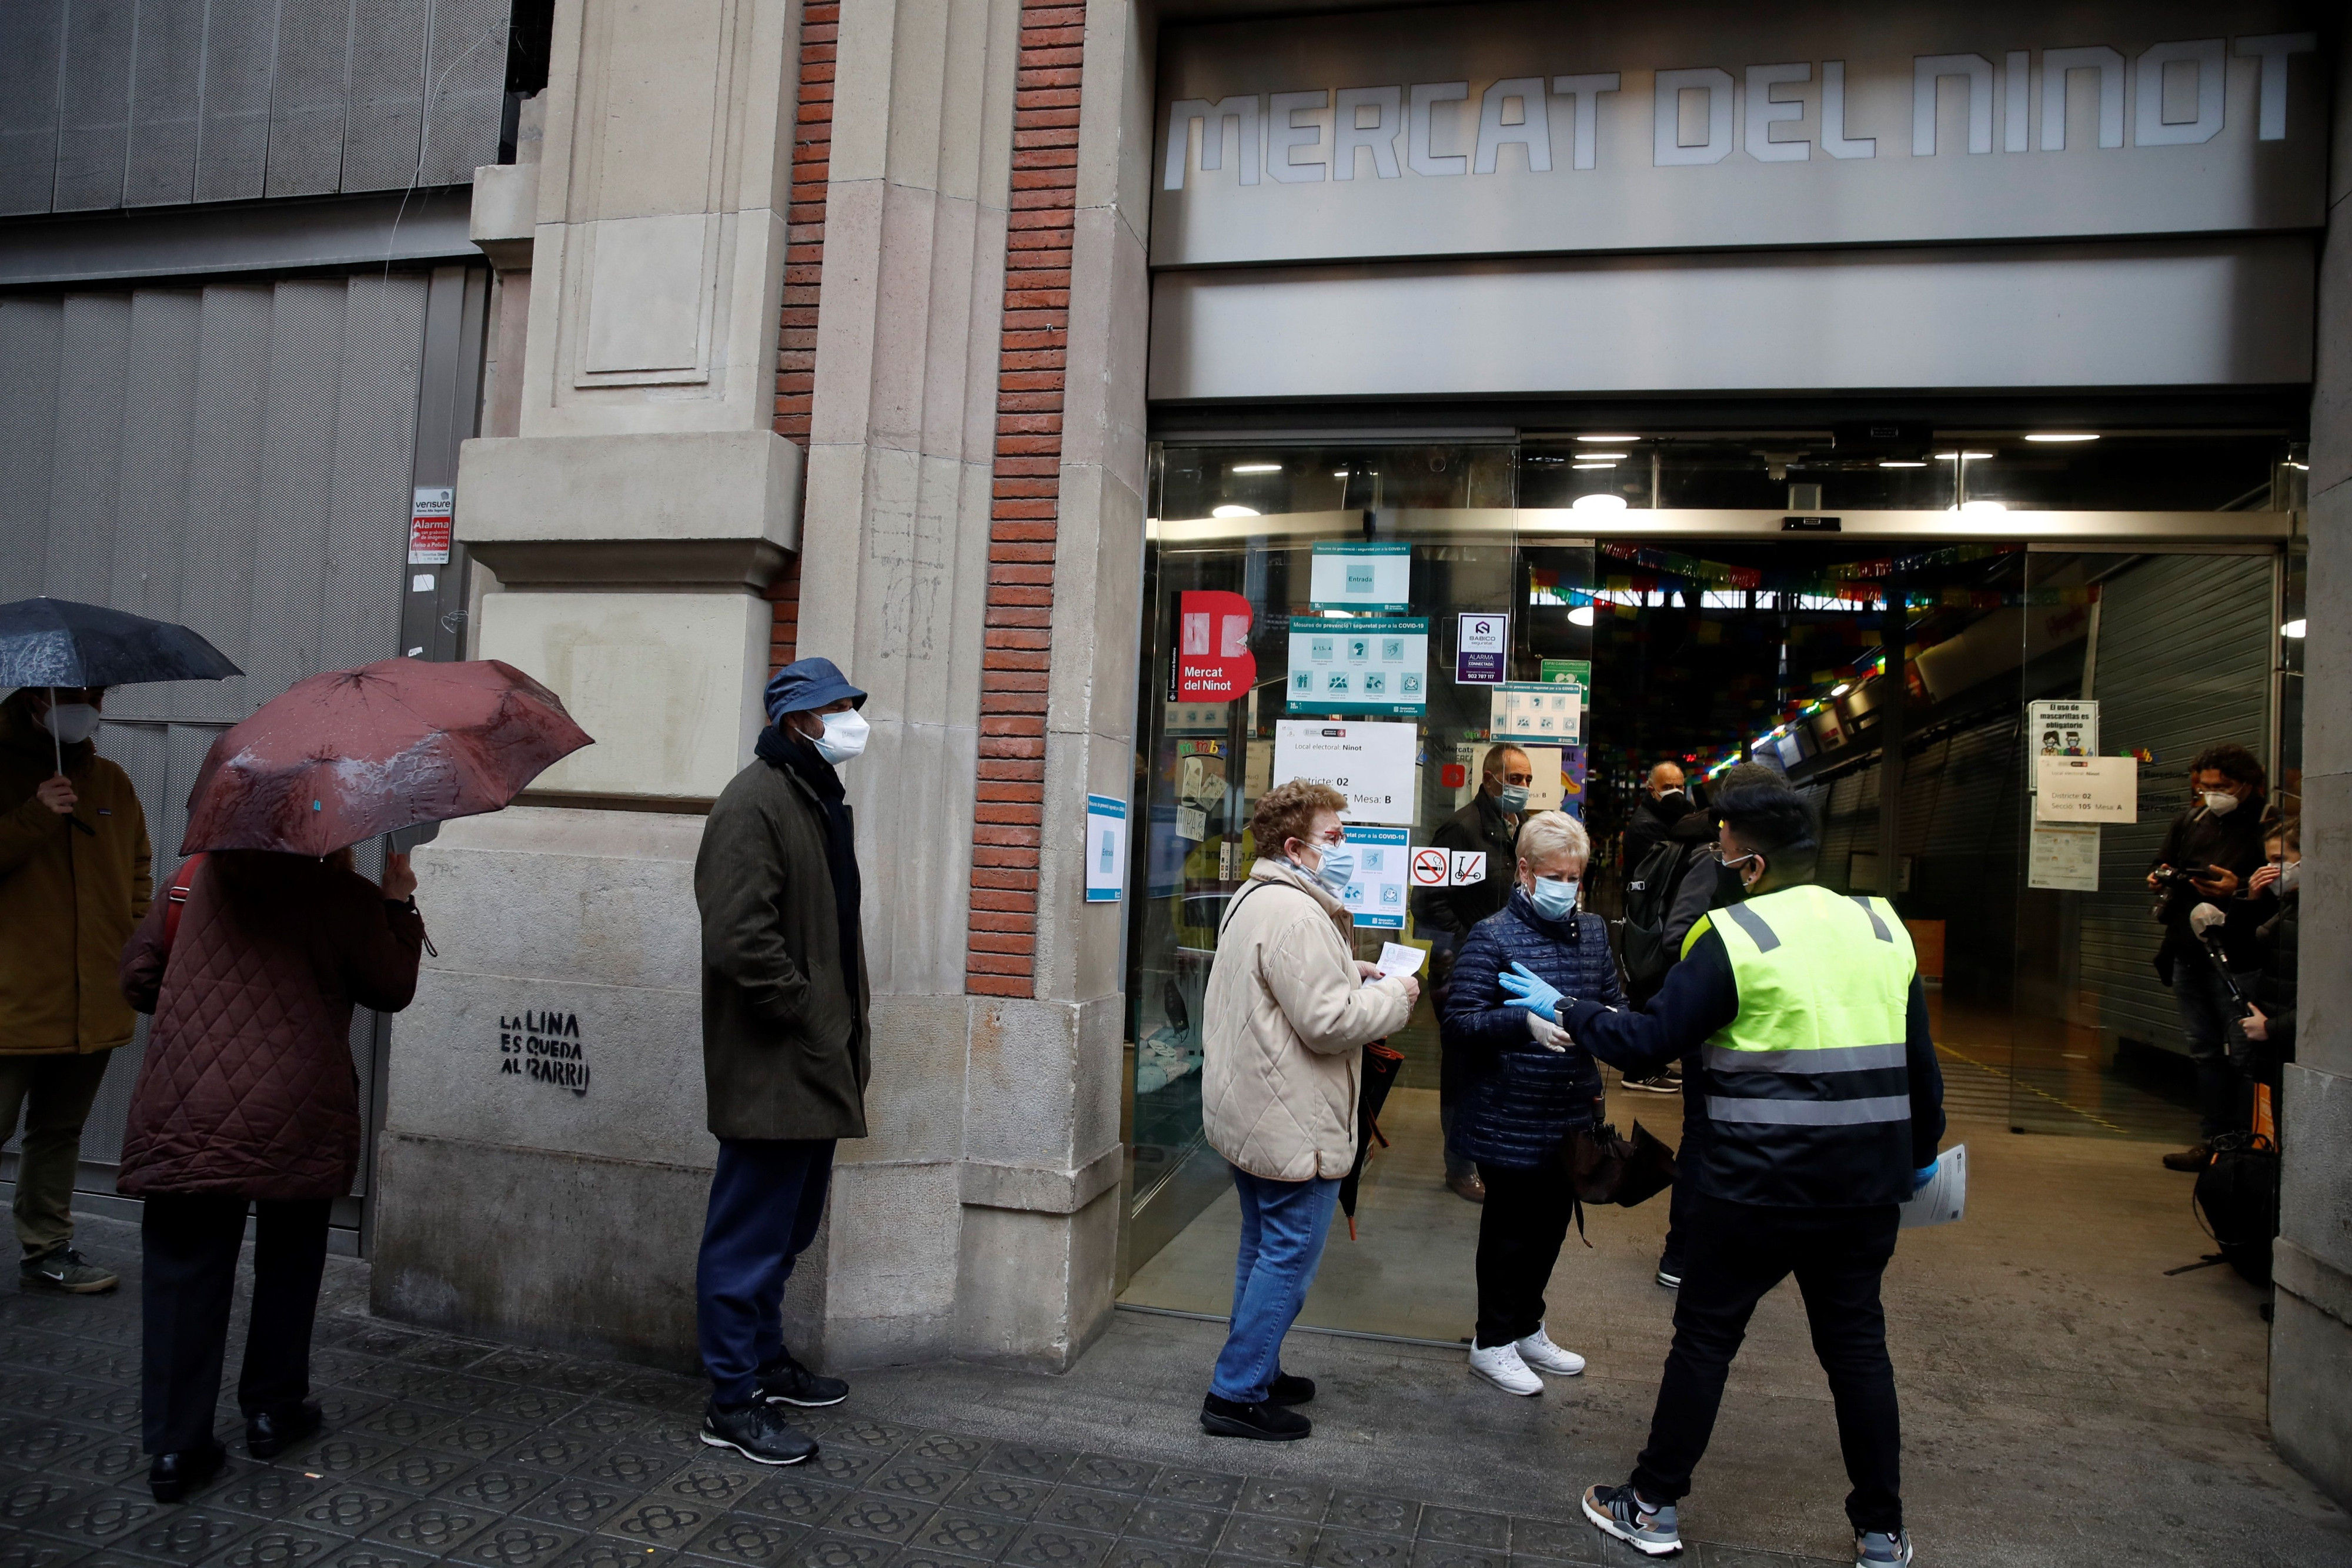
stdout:
{"type": "MultiPolygon", "coordinates": [[[[2263,804],[2267,778],[2244,745],[2218,743],[2190,762],[2190,804],[2164,830],[2164,849],[2147,872],[2157,893],[2154,917],[2164,926],[2157,945],[2157,978],[2173,987],[2180,1032],[2197,1063],[2199,1143],[2166,1154],[2169,1171],[2199,1171],[2211,1143],[2239,1124],[2239,1072],[2230,1063],[2230,1025],[2241,1009],[2230,985],[2190,926],[2199,903],[2234,900],[2263,865],[2263,804]]],[[[2249,922],[2220,929],[2220,952],[2232,971],[2258,961],[2249,922]]]]}

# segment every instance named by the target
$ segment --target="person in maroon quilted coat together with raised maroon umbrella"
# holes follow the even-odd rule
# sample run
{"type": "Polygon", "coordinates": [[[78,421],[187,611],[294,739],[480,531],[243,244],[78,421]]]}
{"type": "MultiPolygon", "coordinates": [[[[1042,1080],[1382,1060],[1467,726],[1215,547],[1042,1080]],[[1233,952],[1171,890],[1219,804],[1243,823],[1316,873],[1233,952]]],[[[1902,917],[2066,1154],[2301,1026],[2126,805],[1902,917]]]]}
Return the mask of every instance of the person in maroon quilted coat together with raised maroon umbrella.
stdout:
{"type": "Polygon", "coordinates": [[[148,1488],[179,1502],[219,1472],[214,1403],[245,1213],[254,1309],[238,1378],[245,1446],[273,1458],[320,1429],[310,1324],[327,1211],[360,1166],[350,1013],[397,1013],[428,947],[416,875],[383,879],[353,844],[496,811],[588,745],[520,670],[383,661],[318,675],[205,757],[191,856],[122,952],[122,994],[155,1016],[118,1187],[146,1199],[143,1439],[148,1488]]]}

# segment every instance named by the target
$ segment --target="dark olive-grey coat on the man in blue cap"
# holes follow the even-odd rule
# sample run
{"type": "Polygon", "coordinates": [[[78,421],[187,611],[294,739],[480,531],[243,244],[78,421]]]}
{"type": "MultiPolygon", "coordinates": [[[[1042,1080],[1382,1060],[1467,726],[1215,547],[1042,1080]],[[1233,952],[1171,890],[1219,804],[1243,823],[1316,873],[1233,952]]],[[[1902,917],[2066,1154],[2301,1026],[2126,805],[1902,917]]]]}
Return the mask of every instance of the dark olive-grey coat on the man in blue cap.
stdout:
{"type": "Polygon", "coordinates": [[[826,867],[826,809],[790,769],[734,776],[694,856],[703,914],[703,1088],[715,1138],[863,1138],[866,959],[856,994],[826,867]]]}

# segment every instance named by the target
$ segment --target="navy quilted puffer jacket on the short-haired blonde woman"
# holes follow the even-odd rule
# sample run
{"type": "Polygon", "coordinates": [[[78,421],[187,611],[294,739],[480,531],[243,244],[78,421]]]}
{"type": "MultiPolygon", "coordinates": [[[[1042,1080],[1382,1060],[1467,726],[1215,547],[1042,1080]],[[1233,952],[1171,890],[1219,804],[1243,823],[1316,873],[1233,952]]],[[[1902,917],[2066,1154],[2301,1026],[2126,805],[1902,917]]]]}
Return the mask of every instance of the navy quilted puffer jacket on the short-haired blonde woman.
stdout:
{"type": "Polygon", "coordinates": [[[1597,914],[1543,919],[1524,889],[1470,931],[1446,992],[1444,1044],[1470,1067],[1449,1147],[1463,1159],[1529,1171],[1578,1126],[1590,1126],[1602,1072],[1581,1046],[1545,1051],[1526,1009],[1503,1006],[1498,976],[1512,964],[1581,1001],[1621,1001],[1616,957],[1597,914]]]}

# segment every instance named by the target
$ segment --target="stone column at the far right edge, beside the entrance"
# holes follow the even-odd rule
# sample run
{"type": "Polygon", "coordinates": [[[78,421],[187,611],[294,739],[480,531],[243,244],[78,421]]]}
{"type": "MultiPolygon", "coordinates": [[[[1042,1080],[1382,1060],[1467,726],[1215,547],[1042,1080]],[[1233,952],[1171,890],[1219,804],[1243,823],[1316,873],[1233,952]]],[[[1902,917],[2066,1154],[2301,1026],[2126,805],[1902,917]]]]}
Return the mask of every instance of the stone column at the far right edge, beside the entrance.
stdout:
{"type": "Polygon", "coordinates": [[[2336,61],[2336,155],[2319,263],[2303,642],[2303,966],[2298,1060],[2279,1093],[2270,1429],[2352,1507],[2352,40],[2336,61]]]}

